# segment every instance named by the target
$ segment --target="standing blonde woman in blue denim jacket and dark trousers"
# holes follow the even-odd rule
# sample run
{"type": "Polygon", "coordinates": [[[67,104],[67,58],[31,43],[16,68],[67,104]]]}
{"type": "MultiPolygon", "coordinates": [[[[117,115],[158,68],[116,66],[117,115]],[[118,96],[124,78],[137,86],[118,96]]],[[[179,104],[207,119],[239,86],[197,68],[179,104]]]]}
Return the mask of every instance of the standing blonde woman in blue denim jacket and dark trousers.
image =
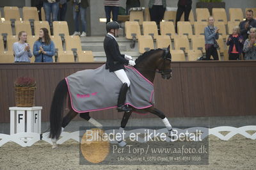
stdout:
{"type": "Polygon", "coordinates": [[[205,60],[210,60],[211,56],[214,60],[218,60],[218,43],[216,40],[219,39],[219,30],[216,26],[214,26],[214,18],[208,18],[208,26],[204,29],[205,36],[205,50],[206,50],[206,58],[205,60]]]}

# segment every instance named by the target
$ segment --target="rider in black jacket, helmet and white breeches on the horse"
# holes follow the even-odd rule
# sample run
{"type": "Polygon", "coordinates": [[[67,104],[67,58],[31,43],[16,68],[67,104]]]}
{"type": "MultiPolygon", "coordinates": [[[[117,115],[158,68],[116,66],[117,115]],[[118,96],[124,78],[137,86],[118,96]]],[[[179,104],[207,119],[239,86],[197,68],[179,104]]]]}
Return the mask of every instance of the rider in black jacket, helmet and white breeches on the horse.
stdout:
{"type": "Polygon", "coordinates": [[[122,81],[123,85],[120,89],[117,110],[118,112],[129,112],[131,109],[124,105],[127,90],[131,84],[129,78],[125,73],[124,65],[135,65],[135,61],[132,60],[131,56],[121,54],[118,43],[116,42],[116,36],[118,36],[118,29],[120,28],[118,22],[108,22],[106,25],[107,35],[104,39],[104,50],[106,53],[106,69],[109,72],[114,72],[115,75],[122,81]]]}

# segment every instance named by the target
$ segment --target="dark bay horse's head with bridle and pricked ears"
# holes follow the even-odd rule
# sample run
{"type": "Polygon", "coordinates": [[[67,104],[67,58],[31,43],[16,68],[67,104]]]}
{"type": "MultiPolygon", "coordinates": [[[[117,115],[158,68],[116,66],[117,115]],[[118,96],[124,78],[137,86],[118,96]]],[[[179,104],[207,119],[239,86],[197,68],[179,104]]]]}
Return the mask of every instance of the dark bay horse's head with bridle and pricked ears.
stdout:
{"type": "Polygon", "coordinates": [[[161,59],[158,60],[157,70],[161,73],[163,79],[170,79],[172,77],[172,55],[170,53],[170,45],[166,50],[164,50],[164,54],[161,56],[161,59]]]}

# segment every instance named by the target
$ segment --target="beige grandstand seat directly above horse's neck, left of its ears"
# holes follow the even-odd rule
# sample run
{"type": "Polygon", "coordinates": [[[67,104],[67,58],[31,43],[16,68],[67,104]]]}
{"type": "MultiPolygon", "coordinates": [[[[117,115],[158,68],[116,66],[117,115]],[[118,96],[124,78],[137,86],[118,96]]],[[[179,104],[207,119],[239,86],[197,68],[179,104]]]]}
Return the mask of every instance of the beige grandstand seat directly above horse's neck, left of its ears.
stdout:
{"type": "Polygon", "coordinates": [[[141,54],[150,49],[154,49],[154,42],[153,42],[152,36],[150,35],[139,36],[138,47],[139,47],[139,52],[141,54]]]}

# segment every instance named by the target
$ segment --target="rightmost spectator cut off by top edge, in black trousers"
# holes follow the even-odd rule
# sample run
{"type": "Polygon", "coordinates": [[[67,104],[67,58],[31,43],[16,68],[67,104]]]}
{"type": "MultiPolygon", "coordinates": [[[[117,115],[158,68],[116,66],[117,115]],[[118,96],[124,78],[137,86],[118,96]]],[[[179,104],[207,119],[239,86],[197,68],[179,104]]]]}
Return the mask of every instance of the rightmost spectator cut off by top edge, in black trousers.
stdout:
{"type": "Polygon", "coordinates": [[[175,22],[176,33],[177,33],[177,23],[180,21],[182,14],[184,13],[184,20],[188,21],[191,8],[192,8],[192,0],[179,0],[178,10],[176,14],[176,22],[175,22]]]}

